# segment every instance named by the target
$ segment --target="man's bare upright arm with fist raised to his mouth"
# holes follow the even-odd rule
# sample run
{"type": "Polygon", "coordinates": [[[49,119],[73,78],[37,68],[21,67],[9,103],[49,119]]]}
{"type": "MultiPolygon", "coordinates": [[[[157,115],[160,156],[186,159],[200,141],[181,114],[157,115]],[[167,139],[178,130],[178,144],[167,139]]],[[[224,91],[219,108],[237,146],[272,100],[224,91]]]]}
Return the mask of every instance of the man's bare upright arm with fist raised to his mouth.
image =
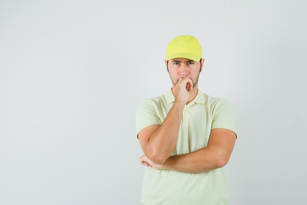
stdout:
{"type": "Polygon", "coordinates": [[[177,144],[183,108],[189,99],[186,86],[192,88],[189,78],[182,78],[176,86],[175,102],[161,125],[142,129],[138,138],[145,155],[155,164],[164,164],[177,144]]]}

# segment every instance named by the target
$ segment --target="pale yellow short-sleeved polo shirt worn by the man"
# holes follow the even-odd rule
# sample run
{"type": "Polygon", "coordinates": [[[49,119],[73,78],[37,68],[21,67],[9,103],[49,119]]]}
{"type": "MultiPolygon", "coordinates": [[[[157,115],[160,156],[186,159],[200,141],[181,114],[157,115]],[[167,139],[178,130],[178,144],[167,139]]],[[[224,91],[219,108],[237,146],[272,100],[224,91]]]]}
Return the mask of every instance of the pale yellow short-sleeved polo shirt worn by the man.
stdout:
{"type": "MultiPolygon", "coordinates": [[[[152,124],[161,124],[172,108],[172,90],[143,99],[136,111],[136,135],[152,124]]],[[[185,105],[176,148],[172,155],[186,154],[207,146],[211,129],[226,128],[236,133],[235,117],[228,100],[212,97],[198,89],[185,105]]],[[[228,205],[224,168],[204,173],[156,170],[145,166],[142,205],[228,205]]]]}

